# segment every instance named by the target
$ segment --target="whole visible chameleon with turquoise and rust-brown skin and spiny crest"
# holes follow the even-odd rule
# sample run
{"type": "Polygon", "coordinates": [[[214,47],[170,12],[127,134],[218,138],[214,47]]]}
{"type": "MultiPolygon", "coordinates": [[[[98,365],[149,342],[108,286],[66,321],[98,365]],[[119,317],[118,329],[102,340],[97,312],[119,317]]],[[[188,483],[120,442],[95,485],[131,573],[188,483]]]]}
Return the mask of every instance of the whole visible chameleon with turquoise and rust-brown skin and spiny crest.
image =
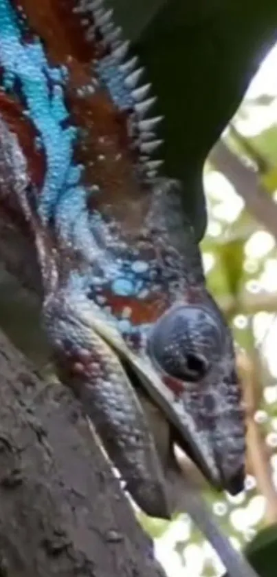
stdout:
{"type": "MultiPolygon", "coordinates": [[[[243,489],[232,337],[208,293],[161,118],[102,0],[0,0],[0,211],[36,247],[43,323],[126,489],[170,516],[147,397],[208,481],[243,489]]],[[[239,573],[238,573],[239,575],[239,573]]]]}

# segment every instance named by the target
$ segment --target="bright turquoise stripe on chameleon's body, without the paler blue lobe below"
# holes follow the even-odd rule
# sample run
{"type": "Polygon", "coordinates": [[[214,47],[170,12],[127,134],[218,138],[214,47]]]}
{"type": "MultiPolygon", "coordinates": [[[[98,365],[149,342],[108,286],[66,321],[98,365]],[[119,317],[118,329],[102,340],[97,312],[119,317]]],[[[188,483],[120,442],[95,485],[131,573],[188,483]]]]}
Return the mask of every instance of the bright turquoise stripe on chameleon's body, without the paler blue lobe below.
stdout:
{"type": "MultiPolygon", "coordinates": [[[[38,38],[23,44],[16,14],[8,0],[0,0],[0,62],[4,69],[3,84],[11,90],[16,78],[27,103],[28,116],[38,130],[45,149],[47,169],[38,212],[48,220],[54,211],[60,190],[71,166],[76,129],[63,129],[60,122],[68,113],[58,68],[51,68],[38,38]],[[57,80],[49,94],[49,78],[57,80]]],[[[64,74],[60,70],[60,77],[64,74]]]]}

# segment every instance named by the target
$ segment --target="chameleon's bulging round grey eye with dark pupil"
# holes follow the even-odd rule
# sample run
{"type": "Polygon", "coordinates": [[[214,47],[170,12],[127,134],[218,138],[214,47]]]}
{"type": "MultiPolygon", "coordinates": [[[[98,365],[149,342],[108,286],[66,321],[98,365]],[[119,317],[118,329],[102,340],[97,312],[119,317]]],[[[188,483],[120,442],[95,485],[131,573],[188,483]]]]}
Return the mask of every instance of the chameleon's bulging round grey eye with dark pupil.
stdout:
{"type": "Polygon", "coordinates": [[[148,339],[152,361],[170,377],[197,382],[221,355],[221,319],[202,306],[171,308],[155,324],[148,339]]]}

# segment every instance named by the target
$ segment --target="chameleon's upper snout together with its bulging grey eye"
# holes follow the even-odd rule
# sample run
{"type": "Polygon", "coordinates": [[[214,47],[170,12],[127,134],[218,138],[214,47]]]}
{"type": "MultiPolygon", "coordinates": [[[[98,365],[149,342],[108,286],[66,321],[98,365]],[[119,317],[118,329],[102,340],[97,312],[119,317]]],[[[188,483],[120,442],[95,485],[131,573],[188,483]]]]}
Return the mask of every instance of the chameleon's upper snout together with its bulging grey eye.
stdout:
{"type": "Polygon", "coordinates": [[[232,336],[210,296],[170,308],[149,335],[148,355],[165,385],[164,410],[177,444],[214,487],[243,490],[241,387],[232,336]]]}

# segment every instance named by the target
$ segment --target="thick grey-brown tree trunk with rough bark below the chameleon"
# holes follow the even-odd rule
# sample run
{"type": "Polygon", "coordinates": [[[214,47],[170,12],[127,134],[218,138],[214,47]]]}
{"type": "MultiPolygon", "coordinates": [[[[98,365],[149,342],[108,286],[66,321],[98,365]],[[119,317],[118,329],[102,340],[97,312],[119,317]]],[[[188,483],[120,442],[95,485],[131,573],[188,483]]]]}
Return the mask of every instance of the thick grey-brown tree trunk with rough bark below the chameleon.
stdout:
{"type": "Polygon", "coordinates": [[[78,401],[0,333],[0,575],[162,576],[78,401]]]}

